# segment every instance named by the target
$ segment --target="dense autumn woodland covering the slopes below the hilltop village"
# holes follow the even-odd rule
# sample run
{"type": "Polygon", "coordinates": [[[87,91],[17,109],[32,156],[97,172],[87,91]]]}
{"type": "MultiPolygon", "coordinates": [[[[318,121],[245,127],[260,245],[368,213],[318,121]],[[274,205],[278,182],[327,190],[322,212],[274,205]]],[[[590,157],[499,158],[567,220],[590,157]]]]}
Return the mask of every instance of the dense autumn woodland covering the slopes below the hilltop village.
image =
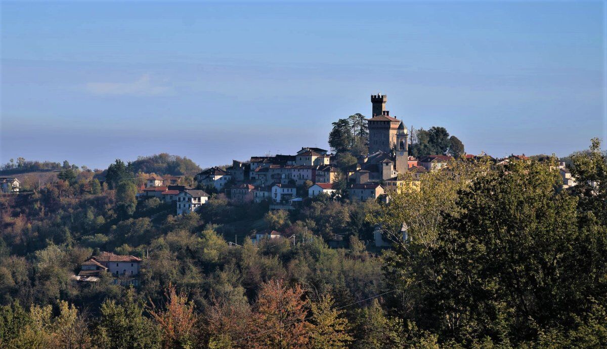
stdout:
{"type": "Polygon", "coordinates": [[[344,191],[268,211],[214,194],[179,217],[135,199],[138,172],[161,172],[140,160],[112,164],[103,184],[62,166],[55,183],[0,197],[0,347],[607,346],[598,140],[571,157],[566,190],[551,161],[461,160],[405,176],[387,204],[344,191]],[[375,226],[392,248],[371,247],[375,226]],[[295,243],[253,245],[266,228],[295,243]],[[338,239],[347,248],[329,248],[338,239]],[[100,251],[141,257],[140,284],[70,280],[100,251]]]}

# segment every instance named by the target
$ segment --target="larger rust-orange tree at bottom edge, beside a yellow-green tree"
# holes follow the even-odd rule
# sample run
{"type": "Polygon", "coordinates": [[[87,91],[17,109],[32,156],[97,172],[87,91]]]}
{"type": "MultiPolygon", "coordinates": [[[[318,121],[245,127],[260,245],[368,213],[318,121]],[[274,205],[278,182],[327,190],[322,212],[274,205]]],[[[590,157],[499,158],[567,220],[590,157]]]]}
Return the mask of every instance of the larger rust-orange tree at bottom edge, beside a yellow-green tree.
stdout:
{"type": "Polygon", "coordinates": [[[253,314],[254,348],[306,348],[311,325],[305,320],[307,304],[301,286],[290,288],[282,280],[263,283],[253,314]]]}

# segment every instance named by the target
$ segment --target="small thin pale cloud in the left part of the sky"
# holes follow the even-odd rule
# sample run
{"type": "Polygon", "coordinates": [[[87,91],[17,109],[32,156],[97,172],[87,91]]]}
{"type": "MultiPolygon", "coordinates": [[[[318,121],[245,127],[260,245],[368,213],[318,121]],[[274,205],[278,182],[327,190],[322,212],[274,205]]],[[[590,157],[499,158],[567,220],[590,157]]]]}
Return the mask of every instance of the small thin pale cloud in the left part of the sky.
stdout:
{"type": "Polygon", "coordinates": [[[149,74],[130,83],[87,83],[86,90],[93,95],[157,96],[171,92],[171,87],[153,81],[149,74]]]}

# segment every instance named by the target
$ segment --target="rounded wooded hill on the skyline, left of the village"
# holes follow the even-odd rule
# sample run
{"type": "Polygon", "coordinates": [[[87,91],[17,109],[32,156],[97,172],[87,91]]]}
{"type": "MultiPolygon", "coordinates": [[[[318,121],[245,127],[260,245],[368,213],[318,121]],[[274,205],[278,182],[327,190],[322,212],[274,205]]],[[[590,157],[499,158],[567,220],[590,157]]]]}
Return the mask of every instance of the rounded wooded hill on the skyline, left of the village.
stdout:
{"type": "Polygon", "coordinates": [[[186,157],[169,155],[166,153],[155,154],[148,157],[138,157],[132,162],[135,173],[144,172],[159,175],[190,175],[193,176],[201,171],[200,167],[186,157]]]}

